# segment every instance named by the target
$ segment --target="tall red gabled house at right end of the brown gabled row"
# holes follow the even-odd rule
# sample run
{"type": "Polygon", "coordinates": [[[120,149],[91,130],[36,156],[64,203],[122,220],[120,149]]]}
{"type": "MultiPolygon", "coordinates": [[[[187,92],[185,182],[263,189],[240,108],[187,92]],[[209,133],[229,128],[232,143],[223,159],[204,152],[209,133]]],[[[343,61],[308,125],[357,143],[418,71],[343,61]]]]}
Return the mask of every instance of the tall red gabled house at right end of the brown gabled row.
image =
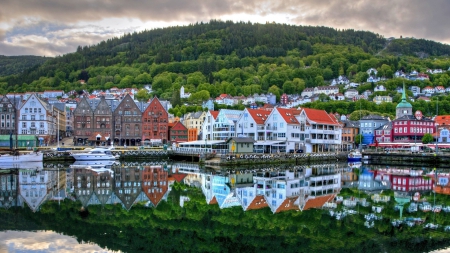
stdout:
{"type": "Polygon", "coordinates": [[[144,143],[166,143],[168,140],[169,115],[161,105],[159,99],[154,97],[142,114],[142,140],[144,143]]]}

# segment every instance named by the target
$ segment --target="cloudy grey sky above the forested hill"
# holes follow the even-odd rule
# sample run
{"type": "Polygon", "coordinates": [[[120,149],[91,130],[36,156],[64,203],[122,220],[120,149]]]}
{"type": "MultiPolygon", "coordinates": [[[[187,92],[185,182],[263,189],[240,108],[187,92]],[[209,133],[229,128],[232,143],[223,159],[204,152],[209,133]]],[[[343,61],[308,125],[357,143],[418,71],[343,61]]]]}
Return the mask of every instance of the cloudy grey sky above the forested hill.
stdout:
{"type": "Polygon", "coordinates": [[[0,55],[56,56],[133,31],[211,19],[352,28],[450,43],[448,0],[2,0],[0,55]]]}

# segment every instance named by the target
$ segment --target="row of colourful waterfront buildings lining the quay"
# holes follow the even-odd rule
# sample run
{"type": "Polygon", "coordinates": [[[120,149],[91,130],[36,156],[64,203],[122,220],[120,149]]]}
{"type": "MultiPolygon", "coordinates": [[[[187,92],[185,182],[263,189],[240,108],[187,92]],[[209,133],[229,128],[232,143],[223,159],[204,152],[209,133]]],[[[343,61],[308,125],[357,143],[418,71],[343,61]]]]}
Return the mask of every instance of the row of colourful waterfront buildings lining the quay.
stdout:
{"type": "Polygon", "coordinates": [[[129,93],[121,99],[84,96],[73,107],[50,103],[38,94],[30,94],[27,99],[7,95],[0,101],[0,134],[17,130],[20,135],[36,136],[36,145],[54,143],[58,136],[69,133],[75,145],[211,144],[248,137],[255,142],[254,151],[261,153],[348,150],[354,147],[357,134],[363,135],[363,144],[419,143],[427,133],[439,142],[449,142],[446,117],[416,115],[406,100],[405,88],[394,120],[369,115],[356,122],[323,110],[269,104],[256,109],[214,111],[208,105],[211,100],[205,103],[205,111],[178,119],[168,113],[167,102],[156,97],[139,102],[129,93]]]}

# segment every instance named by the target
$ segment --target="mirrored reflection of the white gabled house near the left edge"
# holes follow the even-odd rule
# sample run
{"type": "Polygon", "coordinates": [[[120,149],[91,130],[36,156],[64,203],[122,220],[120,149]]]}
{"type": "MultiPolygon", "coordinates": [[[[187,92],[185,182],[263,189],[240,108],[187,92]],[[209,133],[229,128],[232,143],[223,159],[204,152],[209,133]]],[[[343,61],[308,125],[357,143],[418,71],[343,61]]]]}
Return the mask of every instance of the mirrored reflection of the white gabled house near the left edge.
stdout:
{"type": "Polygon", "coordinates": [[[23,170],[19,172],[20,196],[33,212],[51,197],[56,183],[53,171],[23,170]],[[53,180],[52,180],[53,179],[53,180]]]}

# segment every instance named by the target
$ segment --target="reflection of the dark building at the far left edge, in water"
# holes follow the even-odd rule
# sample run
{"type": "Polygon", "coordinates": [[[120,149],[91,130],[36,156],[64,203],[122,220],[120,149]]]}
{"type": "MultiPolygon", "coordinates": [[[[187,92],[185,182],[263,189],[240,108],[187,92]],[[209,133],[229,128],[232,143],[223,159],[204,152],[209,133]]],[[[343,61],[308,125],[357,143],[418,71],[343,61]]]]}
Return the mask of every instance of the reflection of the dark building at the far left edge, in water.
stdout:
{"type": "Polygon", "coordinates": [[[18,178],[16,173],[0,174],[0,208],[22,206],[22,199],[18,197],[18,178]]]}

